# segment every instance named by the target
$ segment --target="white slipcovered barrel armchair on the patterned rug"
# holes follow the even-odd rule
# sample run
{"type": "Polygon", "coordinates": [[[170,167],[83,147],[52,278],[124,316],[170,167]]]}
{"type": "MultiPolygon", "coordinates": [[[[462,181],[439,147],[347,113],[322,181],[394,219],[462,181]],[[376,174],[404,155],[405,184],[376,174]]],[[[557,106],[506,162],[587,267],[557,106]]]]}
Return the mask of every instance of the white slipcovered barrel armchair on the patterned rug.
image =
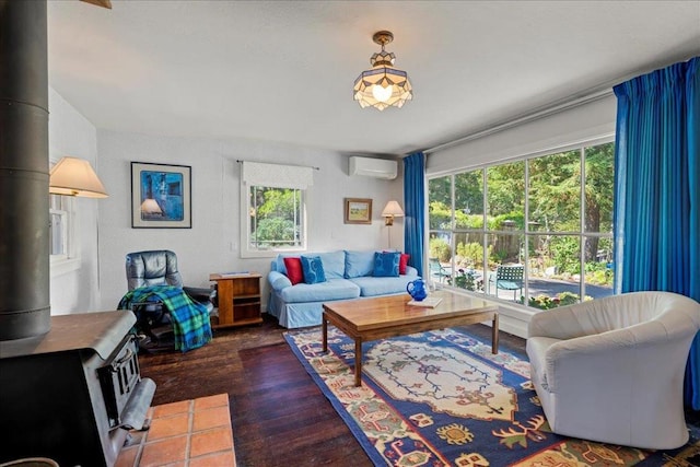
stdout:
{"type": "Polygon", "coordinates": [[[669,450],[688,442],[682,384],[700,303],[633,292],[533,316],[530,377],[552,431],[669,450]]]}

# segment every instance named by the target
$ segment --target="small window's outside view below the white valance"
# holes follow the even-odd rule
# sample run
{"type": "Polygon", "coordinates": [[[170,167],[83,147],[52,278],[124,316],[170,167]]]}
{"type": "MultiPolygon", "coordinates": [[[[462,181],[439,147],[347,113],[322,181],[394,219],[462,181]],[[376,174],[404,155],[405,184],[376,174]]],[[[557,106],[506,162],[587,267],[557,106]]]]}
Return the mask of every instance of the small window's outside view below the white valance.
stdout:
{"type": "Polygon", "coordinates": [[[250,249],[276,250],[303,246],[302,190],[252,186],[248,195],[250,249]]]}

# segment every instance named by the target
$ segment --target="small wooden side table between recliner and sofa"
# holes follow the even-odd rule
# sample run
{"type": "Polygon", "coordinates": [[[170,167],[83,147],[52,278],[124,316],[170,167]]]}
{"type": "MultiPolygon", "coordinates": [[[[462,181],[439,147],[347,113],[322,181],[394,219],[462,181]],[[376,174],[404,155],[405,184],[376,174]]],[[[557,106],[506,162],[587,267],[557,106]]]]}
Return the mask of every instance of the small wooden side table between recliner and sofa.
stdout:
{"type": "Polygon", "coordinates": [[[209,275],[209,280],[217,282],[219,299],[219,316],[211,317],[212,328],[262,323],[260,315],[261,277],[257,272],[209,275]]]}

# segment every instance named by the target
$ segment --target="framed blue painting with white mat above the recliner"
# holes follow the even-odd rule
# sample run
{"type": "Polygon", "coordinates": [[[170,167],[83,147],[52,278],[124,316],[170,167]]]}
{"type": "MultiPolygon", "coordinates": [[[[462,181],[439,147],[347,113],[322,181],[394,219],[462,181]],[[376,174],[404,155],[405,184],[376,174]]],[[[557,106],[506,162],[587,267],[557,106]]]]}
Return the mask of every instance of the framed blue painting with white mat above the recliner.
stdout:
{"type": "Polygon", "coordinates": [[[132,162],[131,227],[191,226],[191,167],[132,162]]]}

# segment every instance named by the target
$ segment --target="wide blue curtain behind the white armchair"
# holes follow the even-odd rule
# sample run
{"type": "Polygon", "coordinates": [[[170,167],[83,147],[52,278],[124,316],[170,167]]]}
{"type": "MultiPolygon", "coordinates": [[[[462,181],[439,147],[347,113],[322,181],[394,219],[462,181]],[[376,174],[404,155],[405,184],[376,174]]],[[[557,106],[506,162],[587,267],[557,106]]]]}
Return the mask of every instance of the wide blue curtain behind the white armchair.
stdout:
{"type": "MultiPolygon", "coordinates": [[[[615,86],[616,292],[700,302],[700,57],[615,86]]],[[[700,410],[700,334],[685,382],[700,410]]]]}

